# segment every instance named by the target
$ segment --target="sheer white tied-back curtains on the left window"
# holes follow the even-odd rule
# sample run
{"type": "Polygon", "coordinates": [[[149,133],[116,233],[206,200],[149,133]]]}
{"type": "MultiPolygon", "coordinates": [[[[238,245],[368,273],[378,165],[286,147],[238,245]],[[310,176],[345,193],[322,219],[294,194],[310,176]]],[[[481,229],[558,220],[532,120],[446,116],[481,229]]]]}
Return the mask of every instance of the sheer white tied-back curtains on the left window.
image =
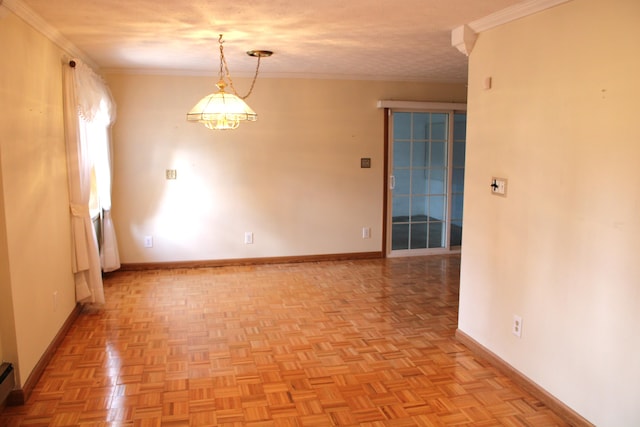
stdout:
{"type": "MultiPolygon", "coordinates": [[[[100,256],[91,223],[89,196],[92,156],[96,155],[101,146],[109,146],[108,132],[115,117],[115,108],[109,90],[102,79],[82,61],[75,59],[73,62],[75,67],[70,67],[68,64],[63,66],[63,86],[76,301],[102,304],[104,291],[100,256]]],[[[110,184],[108,188],[110,192],[110,184]]],[[[110,197],[108,199],[110,210],[110,197]]],[[[111,221],[109,222],[111,224],[111,221]]],[[[115,259],[119,264],[112,224],[110,230],[111,252],[116,248],[115,259]]]]}

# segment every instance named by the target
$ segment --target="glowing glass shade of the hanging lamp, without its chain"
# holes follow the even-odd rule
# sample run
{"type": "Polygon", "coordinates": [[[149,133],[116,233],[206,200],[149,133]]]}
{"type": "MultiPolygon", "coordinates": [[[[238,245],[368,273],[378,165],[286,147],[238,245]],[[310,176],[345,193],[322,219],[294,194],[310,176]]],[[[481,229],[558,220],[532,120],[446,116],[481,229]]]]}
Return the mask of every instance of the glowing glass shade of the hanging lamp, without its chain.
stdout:
{"type": "Polygon", "coordinates": [[[202,98],[187,113],[187,120],[200,122],[209,129],[235,129],[243,120],[257,119],[258,115],[246,102],[222,89],[202,98]]]}

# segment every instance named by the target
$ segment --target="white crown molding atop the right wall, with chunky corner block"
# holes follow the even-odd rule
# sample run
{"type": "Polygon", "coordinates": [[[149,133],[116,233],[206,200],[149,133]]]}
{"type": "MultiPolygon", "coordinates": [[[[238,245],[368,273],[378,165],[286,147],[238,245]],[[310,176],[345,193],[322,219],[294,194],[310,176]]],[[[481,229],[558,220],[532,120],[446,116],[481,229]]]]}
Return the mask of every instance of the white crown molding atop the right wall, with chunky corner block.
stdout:
{"type": "Polygon", "coordinates": [[[569,1],[571,0],[528,0],[514,4],[484,18],[454,28],[451,31],[451,45],[469,56],[479,33],[569,1]]]}

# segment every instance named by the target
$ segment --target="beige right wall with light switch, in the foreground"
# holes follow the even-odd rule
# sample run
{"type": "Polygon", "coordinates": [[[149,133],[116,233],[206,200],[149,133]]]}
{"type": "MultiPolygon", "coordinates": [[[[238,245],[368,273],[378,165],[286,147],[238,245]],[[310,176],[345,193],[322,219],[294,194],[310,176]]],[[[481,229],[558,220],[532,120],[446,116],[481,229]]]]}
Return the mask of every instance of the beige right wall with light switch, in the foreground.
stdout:
{"type": "Polygon", "coordinates": [[[638,22],[575,0],[470,56],[459,328],[601,426],[640,425],[638,22]]]}

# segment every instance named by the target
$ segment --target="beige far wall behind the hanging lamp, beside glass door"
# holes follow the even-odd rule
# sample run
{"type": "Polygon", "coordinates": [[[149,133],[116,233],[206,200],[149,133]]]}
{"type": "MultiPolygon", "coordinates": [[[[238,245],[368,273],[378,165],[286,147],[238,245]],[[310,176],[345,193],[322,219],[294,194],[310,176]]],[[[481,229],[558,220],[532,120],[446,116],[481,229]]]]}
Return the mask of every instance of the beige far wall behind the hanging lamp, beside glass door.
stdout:
{"type": "Polygon", "coordinates": [[[186,113],[215,79],[107,75],[118,104],[113,216],[123,263],[380,251],[376,101],[466,99],[461,84],[264,78],[247,100],[258,121],[211,131],[186,113]],[[166,169],[178,179],[166,180],[166,169]],[[254,244],[244,244],[246,231],[254,244]]]}

